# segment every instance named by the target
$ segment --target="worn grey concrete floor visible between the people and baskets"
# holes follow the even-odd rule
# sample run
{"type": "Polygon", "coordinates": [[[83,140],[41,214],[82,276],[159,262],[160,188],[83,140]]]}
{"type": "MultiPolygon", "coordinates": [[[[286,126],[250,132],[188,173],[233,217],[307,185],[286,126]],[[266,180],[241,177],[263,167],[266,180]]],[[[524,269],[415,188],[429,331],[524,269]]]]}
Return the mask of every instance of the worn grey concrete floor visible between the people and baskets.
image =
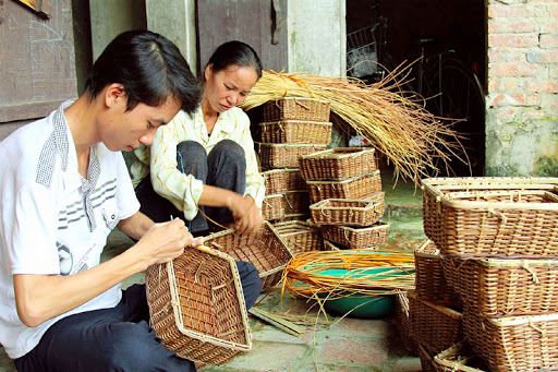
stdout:
{"type": "MultiPolygon", "coordinates": [[[[402,181],[393,188],[393,180],[387,171],[383,171],[383,188],[386,192],[386,214],[383,220],[389,221],[390,229],[388,243],[380,248],[412,251],[425,238],[422,228],[421,190],[415,190],[414,184],[402,181]]],[[[109,237],[104,259],[119,254],[130,244],[131,241],[122,233],[113,232],[109,237]]],[[[125,280],[124,287],[143,281],[143,274],[137,274],[125,280]]],[[[280,291],[276,289],[258,307],[282,313],[292,304],[293,300],[284,296],[281,309],[280,291]]],[[[299,299],[290,313],[315,320],[315,310],[308,312],[311,305],[299,299]]],[[[410,355],[402,346],[395,316],[381,320],[340,320],[332,316],[329,320],[328,325],[308,325],[305,333],[295,337],[251,315],[251,327],[255,336],[253,349],[226,364],[206,365],[199,371],[421,371],[420,359],[410,355]]],[[[15,371],[3,348],[0,348],[0,371],[15,371]]]]}

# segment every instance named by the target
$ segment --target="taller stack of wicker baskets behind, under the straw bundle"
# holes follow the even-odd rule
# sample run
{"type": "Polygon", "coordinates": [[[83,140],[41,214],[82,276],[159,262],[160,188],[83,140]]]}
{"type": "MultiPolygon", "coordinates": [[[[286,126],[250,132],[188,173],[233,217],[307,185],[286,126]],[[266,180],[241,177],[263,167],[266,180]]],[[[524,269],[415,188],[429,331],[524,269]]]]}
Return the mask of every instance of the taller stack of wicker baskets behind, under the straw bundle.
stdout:
{"type": "Polygon", "coordinates": [[[310,197],[299,169],[299,157],[329,145],[329,103],[289,97],[268,101],[259,127],[259,163],[266,182],[264,219],[306,219],[310,197]]]}

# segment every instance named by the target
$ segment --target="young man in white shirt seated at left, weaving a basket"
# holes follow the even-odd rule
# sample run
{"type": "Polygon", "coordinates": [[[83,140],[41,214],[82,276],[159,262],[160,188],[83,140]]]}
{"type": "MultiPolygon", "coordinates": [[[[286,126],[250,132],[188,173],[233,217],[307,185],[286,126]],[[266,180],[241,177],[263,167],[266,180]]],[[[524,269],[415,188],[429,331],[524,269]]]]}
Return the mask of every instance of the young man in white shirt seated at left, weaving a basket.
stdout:
{"type": "MultiPolygon", "coordinates": [[[[143,31],[118,36],[85,85],[0,143],[0,343],[20,371],[195,371],[149,328],[145,287],[120,283],[202,240],[138,212],[120,151],[192,112],[198,84],[172,43],[143,31]],[[117,226],[137,243],[100,264],[117,226]]],[[[241,276],[259,292],[253,266],[241,276]]]]}

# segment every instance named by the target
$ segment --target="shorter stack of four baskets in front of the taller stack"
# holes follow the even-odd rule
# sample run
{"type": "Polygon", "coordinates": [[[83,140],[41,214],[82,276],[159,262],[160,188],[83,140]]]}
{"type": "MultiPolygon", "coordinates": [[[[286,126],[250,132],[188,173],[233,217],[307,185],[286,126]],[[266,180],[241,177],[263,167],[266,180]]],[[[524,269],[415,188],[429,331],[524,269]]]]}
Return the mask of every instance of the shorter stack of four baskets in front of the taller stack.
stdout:
{"type": "Polygon", "coordinates": [[[314,203],[312,221],[324,238],[349,249],[387,240],[388,225],[378,223],[385,203],[373,147],[340,147],[300,158],[302,177],[314,203]]]}

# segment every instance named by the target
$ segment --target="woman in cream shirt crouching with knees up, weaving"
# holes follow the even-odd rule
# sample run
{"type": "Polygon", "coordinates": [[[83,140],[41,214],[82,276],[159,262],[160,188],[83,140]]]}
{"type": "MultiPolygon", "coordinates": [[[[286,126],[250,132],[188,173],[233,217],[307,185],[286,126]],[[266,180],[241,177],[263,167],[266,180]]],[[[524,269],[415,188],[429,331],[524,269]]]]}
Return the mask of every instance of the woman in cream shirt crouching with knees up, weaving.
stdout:
{"type": "Polygon", "coordinates": [[[248,45],[217,48],[204,71],[197,110],[180,111],[157,131],[150,148],[135,151],[132,177],[143,213],[155,221],[180,216],[194,236],[216,226],[232,226],[240,235],[259,229],[264,178],[250,119],[235,106],[260,76],[262,63],[248,45]]]}

